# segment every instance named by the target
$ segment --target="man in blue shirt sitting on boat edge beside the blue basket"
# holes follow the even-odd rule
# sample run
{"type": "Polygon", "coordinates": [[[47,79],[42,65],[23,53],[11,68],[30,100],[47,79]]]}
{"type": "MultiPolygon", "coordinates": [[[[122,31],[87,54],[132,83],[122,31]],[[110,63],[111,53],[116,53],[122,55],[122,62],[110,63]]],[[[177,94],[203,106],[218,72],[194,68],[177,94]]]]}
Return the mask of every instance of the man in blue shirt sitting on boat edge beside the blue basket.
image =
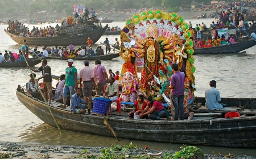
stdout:
{"type": "Polygon", "coordinates": [[[73,96],[71,97],[70,111],[72,113],[84,114],[86,112],[85,101],[82,100],[82,98],[80,97],[80,93],[81,93],[80,89],[77,88],[76,93],[73,94],[73,96]]]}

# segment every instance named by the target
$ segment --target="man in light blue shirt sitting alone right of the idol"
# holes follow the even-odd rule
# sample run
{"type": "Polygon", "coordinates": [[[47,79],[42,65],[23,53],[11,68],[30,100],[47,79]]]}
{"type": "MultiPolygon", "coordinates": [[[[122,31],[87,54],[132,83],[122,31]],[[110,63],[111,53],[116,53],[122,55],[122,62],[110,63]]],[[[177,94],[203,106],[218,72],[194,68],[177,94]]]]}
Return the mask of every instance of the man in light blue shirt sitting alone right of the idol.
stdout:
{"type": "Polygon", "coordinates": [[[220,104],[220,91],[216,89],[216,81],[211,80],[209,85],[210,88],[205,91],[205,106],[210,110],[221,109],[223,106],[226,106],[225,104],[220,104]]]}

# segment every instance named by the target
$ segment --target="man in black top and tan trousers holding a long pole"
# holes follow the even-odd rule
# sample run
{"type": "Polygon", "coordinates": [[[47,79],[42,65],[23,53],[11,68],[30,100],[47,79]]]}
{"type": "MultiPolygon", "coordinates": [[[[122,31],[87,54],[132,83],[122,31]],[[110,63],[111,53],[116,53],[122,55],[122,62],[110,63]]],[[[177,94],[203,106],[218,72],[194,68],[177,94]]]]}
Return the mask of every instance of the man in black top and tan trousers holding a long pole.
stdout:
{"type": "MultiPolygon", "coordinates": [[[[30,68],[30,66],[28,66],[30,68]]],[[[38,81],[40,79],[43,79],[43,92],[44,97],[46,97],[46,100],[49,101],[49,104],[51,104],[51,95],[52,95],[52,74],[51,74],[51,67],[47,65],[47,59],[42,59],[42,66],[38,68],[38,70],[32,69],[34,72],[40,72],[42,71],[42,77],[38,78],[38,81]]]]}

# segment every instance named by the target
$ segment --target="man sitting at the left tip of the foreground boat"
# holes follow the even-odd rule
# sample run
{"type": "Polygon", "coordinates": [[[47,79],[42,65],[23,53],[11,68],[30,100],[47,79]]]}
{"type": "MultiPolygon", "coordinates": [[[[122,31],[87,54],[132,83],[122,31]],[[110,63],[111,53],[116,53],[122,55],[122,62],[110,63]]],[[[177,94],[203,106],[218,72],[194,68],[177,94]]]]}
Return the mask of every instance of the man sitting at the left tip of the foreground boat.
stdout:
{"type": "MultiPolygon", "coordinates": [[[[36,78],[36,75],[33,74],[36,78]]],[[[26,92],[28,96],[38,98],[40,100],[41,95],[39,93],[39,89],[36,86],[35,79],[33,78],[32,74],[30,74],[30,80],[26,84],[26,92]]]]}

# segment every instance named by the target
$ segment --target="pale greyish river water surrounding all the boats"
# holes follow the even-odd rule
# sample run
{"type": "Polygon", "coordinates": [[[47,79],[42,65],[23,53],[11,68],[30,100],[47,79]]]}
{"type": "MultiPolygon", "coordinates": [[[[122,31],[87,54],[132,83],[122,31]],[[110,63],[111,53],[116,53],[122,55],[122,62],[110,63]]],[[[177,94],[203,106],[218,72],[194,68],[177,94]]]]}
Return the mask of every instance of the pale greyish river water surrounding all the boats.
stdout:
{"type": "MultiPolygon", "coordinates": [[[[193,27],[195,24],[204,22],[210,24],[212,19],[191,19],[193,27]]],[[[55,26],[56,24],[49,24],[55,26]]],[[[124,27],[125,22],[110,23],[110,27],[119,26],[124,27]]],[[[42,27],[42,25],[35,25],[42,27]]],[[[43,26],[46,26],[44,24],[43,26]]],[[[32,27],[30,25],[29,27],[32,27]]],[[[3,31],[7,25],[0,25],[0,51],[5,50],[18,51],[19,44],[16,44],[7,34],[3,31]]],[[[108,37],[110,44],[114,44],[115,36],[103,35],[96,45],[101,45],[108,37]]],[[[86,40],[84,41],[86,43],[86,40]]],[[[67,44],[68,45],[68,44],[67,44]]],[[[32,48],[33,46],[31,46],[32,48]]],[[[79,46],[75,46],[78,48],[79,46]]],[[[95,48],[94,48],[95,49],[95,48]]],[[[217,81],[217,89],[221,93],[221,97],[256,97],[256,46],[246,50],[246,53],[238,54],[222,54],[222,55],[194,55],[195,58],[195,78],[196,78],[196,91],[195,95],[204,97],[204,92],[209,88],[209,81],[217,81]]],[[[42,50],[42,46],[39,46],[42,50]]],[[[94,61],[90,61],[90,67],[93,67],[94,61]]],[[[61,60],[49,59],[48,65],[52,68],[53,75],[65,74],[67,63],[61,60]]],[[[82,61],[75,61],[74,65],[77,70],[84,67],[82,61]]],[[[115,58],[112,61],[102,61],[102,65],[106,69],[112,69],[113,72],[121,71],[121,59],[115,58]]],[[[40,67],[36,65],[35,67],[40,67]]],[[[81,134],[77,132],[63,131],[59,134],[56,128],[48,126],[42,122],[34,114],[32,114],[24,105],[22,105],[16,98],[15,91],[18,84],[25,85],[29,80],[30,71],[27,68],[0,68],[0,141],[12,142],[35,142],[48,145],[82,145],[82,146],[110,146],[112,144],[133,144],[139,147],[152,149],[173,149],[179,150],[182,144],[172,143],[156,143],[138,140],[116,141],[114,137],[102,137],[89,134],[81,134]]],[[[40,74],[36,74],[39,76],[40,74]]],[[[55,85],[57,81],[53,81],[55,85]]],[[[185,130],[184,130],[185,131],[185,130]]],[[[255,136],[256,137],[256,136],[255,136]]],[[[223,147],[208,147],[197,145],[203,149],[207,154],[236,154],[247,156],[256,156],[255,149],[249,148],[223,148],[223,147]]]]}

